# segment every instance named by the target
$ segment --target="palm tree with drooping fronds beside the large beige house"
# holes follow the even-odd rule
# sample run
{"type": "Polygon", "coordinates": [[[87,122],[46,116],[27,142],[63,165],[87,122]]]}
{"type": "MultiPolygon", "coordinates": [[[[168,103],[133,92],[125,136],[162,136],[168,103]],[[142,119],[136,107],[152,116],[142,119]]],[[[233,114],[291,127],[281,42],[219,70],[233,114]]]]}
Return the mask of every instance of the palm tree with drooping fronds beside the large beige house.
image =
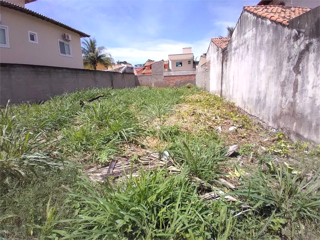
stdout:
{"type": "Polygon", "coordinates": [[[111,66],[114,63],[112,56],[105,51],[107,48],[98,47],[94,38],[84,39],[82,42],[82,58],[85,67],[97,70],[98,63],[104,66],[111,66]]]}

